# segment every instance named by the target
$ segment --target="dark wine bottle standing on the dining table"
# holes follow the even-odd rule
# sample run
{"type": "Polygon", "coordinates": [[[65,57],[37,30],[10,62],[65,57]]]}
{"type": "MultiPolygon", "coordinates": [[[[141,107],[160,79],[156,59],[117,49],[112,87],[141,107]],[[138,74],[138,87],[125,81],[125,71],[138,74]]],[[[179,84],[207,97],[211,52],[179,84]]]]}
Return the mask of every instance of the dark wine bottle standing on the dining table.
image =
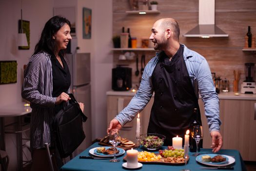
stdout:
{"type": "MultiPolygon", "coordinates": [[[[198,121],[198,115],[197,115],[197,108],[194,108],[193,111],[193,121],[190,126],[190,136],[189,136],[189,149],[190,152],[196,152],[197,151],[197,143],[194,138],[192,138],[192,131],[194,126],[200,125],[198,121]]],[[[198,146],[198,151],[200,151],[200,145],[198,146]]]]}

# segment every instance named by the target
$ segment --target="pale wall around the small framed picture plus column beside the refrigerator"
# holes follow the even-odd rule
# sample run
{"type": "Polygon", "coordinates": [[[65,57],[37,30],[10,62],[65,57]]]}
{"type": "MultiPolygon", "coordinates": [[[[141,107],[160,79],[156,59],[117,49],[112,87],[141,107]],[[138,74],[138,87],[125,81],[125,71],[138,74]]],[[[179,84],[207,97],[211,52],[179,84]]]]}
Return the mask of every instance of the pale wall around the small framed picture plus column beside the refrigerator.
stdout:
{"type": "MultiPolygon", "coordinates": [[[[80,52],[91,53],[92,140],[106,135],[107,98],[111,89],[112,0],[78,0],[76,34],[80,52]],[[82,8],[92,9],[91,39],[82,39],[82,8]]],[[[85,105],[86,107],[86,105],[85,105]]]]}

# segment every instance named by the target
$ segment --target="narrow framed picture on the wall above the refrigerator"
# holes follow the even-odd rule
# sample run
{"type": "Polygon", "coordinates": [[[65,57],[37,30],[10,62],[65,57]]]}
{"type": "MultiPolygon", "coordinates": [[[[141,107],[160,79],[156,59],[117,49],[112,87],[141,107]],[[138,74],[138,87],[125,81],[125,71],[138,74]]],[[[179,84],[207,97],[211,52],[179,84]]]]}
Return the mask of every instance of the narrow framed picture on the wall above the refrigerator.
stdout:
{"type": "Polygon", "coordinates": [[[91,39],[92,35],[92,9],[83,8],[83,39],[91,39]]]}

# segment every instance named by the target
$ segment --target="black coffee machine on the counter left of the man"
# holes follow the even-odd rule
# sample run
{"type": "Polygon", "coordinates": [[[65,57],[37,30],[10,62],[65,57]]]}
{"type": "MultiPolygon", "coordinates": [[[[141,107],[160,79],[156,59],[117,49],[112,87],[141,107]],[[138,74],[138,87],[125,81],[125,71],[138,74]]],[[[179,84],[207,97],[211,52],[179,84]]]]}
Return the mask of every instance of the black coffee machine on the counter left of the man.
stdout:
{"type": "Polygon", "coordinates": [[[112,69],[112,89],[128,91],[132,87],[132,68],[118,65],[112,69]]]}

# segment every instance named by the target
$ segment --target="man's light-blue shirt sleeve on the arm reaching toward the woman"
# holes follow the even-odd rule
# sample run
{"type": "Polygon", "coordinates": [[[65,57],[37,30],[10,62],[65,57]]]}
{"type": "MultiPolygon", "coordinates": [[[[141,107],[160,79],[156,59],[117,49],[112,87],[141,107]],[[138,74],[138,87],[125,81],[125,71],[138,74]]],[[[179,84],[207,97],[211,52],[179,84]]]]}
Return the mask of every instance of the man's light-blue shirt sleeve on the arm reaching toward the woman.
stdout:
{"type": "Polygon", "coordinates": [[[143,108],[150,101],[153,94],[153,87],[151,82],[152,70],[154,67],[152,63],[149,62],[145,68],[142,75],[142,80],[138,88],[137,93],[132,98],[127,107],[125,107],[115,118],[123,126],[127,122],[133,120],[138,112],[143,110],[143,108]]]}

